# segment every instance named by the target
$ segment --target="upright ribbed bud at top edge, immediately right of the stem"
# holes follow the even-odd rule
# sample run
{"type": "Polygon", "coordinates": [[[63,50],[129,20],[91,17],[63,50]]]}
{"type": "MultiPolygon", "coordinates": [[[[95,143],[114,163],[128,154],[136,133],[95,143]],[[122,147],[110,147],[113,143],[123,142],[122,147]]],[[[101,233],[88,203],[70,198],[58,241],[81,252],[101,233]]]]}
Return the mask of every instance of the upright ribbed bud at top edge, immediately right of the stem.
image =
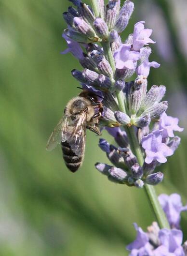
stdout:
{"type": "MultiPolygon", "coordinates": [[[[117,11],[114,6],[114,1],[110,1],[110,4],[107,4],[106,9],[105,9],[105,22],[108,26],[108,30],[112,30],[114,27],[114,24],[116,22],[116,17],[117,17],[117,11]]],[[[115,1],[116,3],[116,1],[115,1]]]]}

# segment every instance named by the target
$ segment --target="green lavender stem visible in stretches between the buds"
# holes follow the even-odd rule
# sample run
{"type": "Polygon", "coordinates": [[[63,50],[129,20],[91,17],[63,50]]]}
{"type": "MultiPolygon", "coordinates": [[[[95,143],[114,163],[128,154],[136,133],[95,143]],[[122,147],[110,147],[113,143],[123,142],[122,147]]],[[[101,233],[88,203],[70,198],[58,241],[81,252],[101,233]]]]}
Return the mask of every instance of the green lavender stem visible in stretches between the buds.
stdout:
{"type": "MultiPolygon", "coordinates": [[[[114,58],[112,55],[110,44],[108,42],[106,42],[106,43],[102,43],[102,46],[103,46],[105,56],[106,56],[108,62],[110,63],[113,72],[115,73],[115,61],[114,61],[114,58]]],[[[123,96],[122,91],[117,91],[116,97],[118,100],[120,111],[123,113],[126,113],[125,104],[124,104],[124,96],[123,96]]],[[[143,156],[142,150],[140,148],[140,145],[139,145],[139,142],[138,142],[135,130],[134,130],[134,126],[132,125],[129,128],[127,126],[125,126],[125,131],[127,133],[128,139],[129,139],[131,150],[133,151],[134,155],[137,157],[137,161],[140,164],[140,166],[143,166],[144,156],[143,156]]],[[[156,195],[154,187],[151,185],[145,184],[144,189],[145,189],[148,201],[151,205],[151,208],[155,214],[155,217],[157,219],[157,222],[158,222],[160,228],[170,228],[169,223],[166,218],[166,215],[160,206],[160,203],[159,203],[159,200],[156,195]]]]}

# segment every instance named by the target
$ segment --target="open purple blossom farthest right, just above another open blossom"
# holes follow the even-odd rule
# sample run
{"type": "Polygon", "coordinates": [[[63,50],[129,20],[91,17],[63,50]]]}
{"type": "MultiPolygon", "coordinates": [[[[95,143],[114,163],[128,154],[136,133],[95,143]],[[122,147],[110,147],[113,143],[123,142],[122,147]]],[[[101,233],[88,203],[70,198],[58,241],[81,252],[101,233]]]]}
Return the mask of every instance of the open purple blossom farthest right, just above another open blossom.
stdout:
{"type": "Polygon", "coordinates": [[[165,112],[161,115],[159,129],[163,129],[163,138],[174,137],[174,131],[182,132],[184,130],[184,128],[178,126],[178,121],[178,118],[167,116],[165,112]]]}

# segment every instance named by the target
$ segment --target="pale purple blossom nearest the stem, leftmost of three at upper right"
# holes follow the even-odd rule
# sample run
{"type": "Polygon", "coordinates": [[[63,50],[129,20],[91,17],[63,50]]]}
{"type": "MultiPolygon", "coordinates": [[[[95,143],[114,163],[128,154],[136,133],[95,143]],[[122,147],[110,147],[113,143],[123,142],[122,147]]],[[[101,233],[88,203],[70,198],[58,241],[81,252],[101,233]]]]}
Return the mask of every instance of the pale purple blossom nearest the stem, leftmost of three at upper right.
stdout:
{"type": "Polygon", "coordinates": [[[134,61],[140,58],[140,53],[131,51],[131,45],[121,44],[114,52],[117,69],[134,69],[134,61]]]}

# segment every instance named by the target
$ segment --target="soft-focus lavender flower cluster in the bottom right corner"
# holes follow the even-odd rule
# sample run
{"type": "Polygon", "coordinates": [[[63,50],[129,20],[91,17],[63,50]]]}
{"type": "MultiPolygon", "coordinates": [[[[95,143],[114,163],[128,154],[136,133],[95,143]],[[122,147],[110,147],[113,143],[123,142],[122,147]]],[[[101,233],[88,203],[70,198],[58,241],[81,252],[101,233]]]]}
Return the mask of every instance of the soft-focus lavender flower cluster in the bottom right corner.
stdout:
{"type": "Polygon", "coordinates": [[[164,210],[171,229],[160,229],[157,222],[153,222],[144,232],[141,227],[134,224],[136,239],[126,248],[131,253],[129,256],[186,256],[187,241],[182,246],[183,233],[180,230],[180,213],[187,211],[187,205],[182,206],[178,194],[167,196],[161,194],[159,201],[164,210]]]}

